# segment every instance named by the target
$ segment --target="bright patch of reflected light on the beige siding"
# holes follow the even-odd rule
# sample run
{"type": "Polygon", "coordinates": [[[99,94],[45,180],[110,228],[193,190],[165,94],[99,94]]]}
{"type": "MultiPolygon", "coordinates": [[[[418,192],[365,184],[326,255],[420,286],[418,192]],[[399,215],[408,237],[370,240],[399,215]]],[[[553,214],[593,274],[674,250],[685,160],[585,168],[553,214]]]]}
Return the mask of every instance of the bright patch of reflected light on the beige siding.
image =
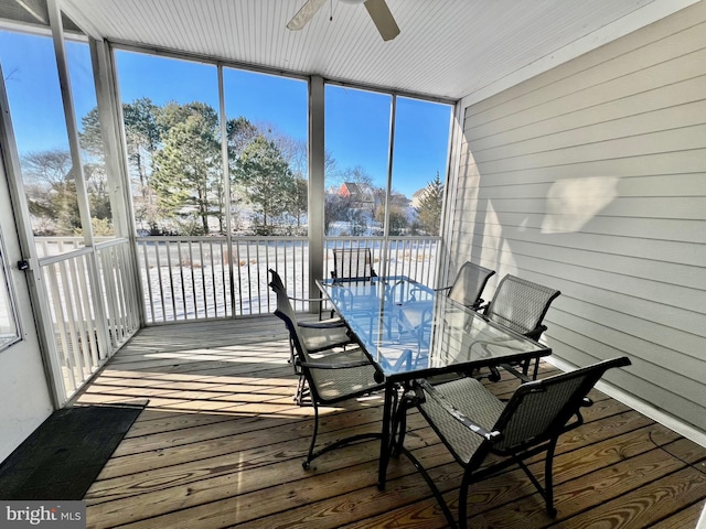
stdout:
{"type": "Polygon", "coordinates": [[[579,231],[618,196],[614,176],[561,180],[547,193],[543,234],[579,231]]]}

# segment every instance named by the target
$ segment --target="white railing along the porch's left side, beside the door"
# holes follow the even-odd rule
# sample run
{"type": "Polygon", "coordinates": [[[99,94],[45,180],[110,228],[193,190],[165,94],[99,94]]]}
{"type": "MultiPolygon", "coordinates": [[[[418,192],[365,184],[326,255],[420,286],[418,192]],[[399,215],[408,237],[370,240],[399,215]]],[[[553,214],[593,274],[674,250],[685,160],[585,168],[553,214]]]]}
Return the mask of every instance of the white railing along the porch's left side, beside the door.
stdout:
{"type": "Polygon", "coordinates": [[[40,269],[52,323],[49,342],[68,400],[139,328],[130,245],[111,239],[94,251],[67,238],[35,239],[38,249],[47,250],[40,269]],[[72,246],[79,249],[56,255],[72,246]]]}

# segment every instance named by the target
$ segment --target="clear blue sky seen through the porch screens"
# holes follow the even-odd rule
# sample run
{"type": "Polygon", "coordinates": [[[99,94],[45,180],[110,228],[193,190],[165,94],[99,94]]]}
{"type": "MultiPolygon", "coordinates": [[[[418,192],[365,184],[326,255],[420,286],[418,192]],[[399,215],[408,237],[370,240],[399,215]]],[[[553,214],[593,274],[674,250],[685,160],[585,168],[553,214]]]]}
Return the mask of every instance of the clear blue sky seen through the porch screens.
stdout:
{"type": "MultiPolygon", "coordinates": [[[[95,107],[90,57],[85,44],[67,43],[69,75],[78,119],[95,107]]],[[[52,43],[0,31],[2,65],[20,153],[66,149],[67,139],[52,43]]],[[[204,101],[218,109],[213,65],[131,52],[117,53],[124,101],[149,97],[157,105],[204,101]]],[[[226,114],[272,123],[292,138],[307,138],[303,80],[224,69],[226,114]]],[[[363,168],[377,185],[387,179],[392,97],[335,85],[325,89],[325,147],[339,171],[363,168]]],[[[397,98],[393,188],[411,196],[434,179],[445,179],[451,108],[397,98]]],[[[81,121],[79,121],[81,126],[81,121]]]]}

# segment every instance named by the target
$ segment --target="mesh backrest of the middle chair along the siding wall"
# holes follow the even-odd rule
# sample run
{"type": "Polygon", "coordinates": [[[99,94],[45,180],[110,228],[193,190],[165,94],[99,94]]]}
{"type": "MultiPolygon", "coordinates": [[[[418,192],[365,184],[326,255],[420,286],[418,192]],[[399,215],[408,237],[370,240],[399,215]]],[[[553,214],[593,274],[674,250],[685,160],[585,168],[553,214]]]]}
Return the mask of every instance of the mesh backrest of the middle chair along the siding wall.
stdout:
{"type": "Polygon", "coordinates": [[[560,293],[558,290],[507,274],[500,281],[484,314],[493,322],[533,339],[539,339],[546,331],[542,321],[552,302],[560,293]]]}

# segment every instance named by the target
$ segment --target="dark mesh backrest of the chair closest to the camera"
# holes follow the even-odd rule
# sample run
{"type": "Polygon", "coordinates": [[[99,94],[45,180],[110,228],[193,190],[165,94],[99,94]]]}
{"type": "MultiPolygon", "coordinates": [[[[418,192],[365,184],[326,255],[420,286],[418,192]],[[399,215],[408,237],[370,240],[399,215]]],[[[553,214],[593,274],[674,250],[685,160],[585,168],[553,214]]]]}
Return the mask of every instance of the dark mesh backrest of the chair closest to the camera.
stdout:
{"type": "Polygon", "coordinates": [[[613,367],[629,366],[625,356],[600,361],[575,371],[563,373],[520,386],[493,430],[501,436],[493,442],[493,451],[514,452],[528,444],[538,444],[567,430],[573,415],[582,422],[579,409],[585,398],[603,374],[613,367]]]}

